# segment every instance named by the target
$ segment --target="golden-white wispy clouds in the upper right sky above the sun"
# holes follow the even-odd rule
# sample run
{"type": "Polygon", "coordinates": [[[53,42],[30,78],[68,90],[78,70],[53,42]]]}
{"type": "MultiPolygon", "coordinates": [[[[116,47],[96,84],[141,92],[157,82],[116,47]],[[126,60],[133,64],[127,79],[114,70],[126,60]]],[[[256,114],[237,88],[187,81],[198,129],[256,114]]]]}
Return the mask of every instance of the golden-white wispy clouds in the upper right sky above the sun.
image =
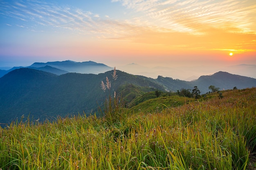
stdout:
{"type": "Polygon", "coordinates": [[[143,13],[144,19],[164,29],[204,33],[219,28],[239,33],[256,33],[254,0],[112,0],[143,13]],[[146,16],[146,17],[145,17],[146,16]],[[153,20],[153,21],[152,21],[153,20]]]}

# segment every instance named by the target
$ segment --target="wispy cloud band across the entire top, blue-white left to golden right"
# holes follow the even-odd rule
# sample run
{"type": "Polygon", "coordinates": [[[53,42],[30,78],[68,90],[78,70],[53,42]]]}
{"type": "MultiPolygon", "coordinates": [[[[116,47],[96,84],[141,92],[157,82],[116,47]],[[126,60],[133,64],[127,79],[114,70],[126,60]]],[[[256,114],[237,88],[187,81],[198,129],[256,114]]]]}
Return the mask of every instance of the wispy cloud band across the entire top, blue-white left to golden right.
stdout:
{"type": "Polygon", "coordinates": [[[137,27],[137,30],[142,27],[154,27],[155,31],[159,32],[176,31],[195,35],[205,34],[205,30],[211,28],[236,33],[256,33],[256,3],[253,0],[112,0],[112,2],[121,2],[124,7],[139,13],[140,17],[122,21],[111,20],[105,15],[104,19],[97,13],[40,1],[0,2],[2,6],[0,12],[18,20],[74,29],[81,33],[108,34],[111,30],[115,35],[123,30],[121,32],[127,34],[134,31],[134,29],[129,31],[131,26],[137,27]]]}

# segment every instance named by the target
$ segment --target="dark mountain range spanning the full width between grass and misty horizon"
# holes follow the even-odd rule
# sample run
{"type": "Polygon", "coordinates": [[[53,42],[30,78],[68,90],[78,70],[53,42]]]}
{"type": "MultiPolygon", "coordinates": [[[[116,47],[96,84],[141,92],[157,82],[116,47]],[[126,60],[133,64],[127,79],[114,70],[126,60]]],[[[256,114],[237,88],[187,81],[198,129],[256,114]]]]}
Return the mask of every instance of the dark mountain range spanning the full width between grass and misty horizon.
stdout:
{"type": "MultiPolygon", "coordinates": [[[[117,70],[118,78],[113,80],[113,71],[99,74],[63,72],[61,75],[42,71],[45,68],[59,72],[64,67],[75,71],[70,61],[61,63],[63,65],[58,65],[58,68],[53,67],[55,62],[48,64],[34,63],[32,68],[18,68],[0,77],[0,123],[8,123],[21,115],[44,120],[83,112],[86,115],[94,114],[99,106],[103,106],[106,96],[113,95],[114,91],[126,99],[129,98],[130,102],[139,95],[156,90],[176,92],[182,88],[193,89],[198,86],[201,94],[204,94],[209,91],[210,85],[221,90],[233,89],[235,86],[238,89],[256,86],[254,78],[222,71],[188,82],[163,76],[153,79],[117,70]],[[110,79],[112,87],[110,91],[104,92],[101,81],[106,82],[106,77],[110,79]]],[[[108,68],[104,65],[103,67],[108,68]]]]}

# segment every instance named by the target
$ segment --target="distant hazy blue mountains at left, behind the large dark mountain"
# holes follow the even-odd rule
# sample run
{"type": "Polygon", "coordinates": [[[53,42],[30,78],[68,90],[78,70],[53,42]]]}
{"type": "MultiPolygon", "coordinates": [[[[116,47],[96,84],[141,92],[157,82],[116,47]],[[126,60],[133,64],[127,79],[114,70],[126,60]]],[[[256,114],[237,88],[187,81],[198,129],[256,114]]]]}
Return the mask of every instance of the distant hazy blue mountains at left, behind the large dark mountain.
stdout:
{"type": "Polygon", "coordinates": [[[9,70],[0,70],[0,77],[18,68],[34,68],[36,70],[46,71],[56,75],[62,75],[70,72],[99,74],[113,69],[112,67],[106,66],[105,64],[92,61],[74,62],[71,60],[67,60],[63,62],[35,62],[31,66],[27,67],[13,67],[9,70]]]}

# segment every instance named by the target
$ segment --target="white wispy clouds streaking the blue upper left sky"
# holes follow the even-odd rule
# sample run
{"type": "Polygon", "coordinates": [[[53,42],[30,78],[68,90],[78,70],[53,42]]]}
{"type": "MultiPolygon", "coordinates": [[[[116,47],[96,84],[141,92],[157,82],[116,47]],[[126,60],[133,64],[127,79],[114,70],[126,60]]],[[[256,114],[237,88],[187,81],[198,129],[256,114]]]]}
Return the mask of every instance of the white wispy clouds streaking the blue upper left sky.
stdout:
{"type": "Polygon", "coordinates": [[[81,34],[100,33],[107,38],[116,38],[127,35],[131,27],[127,22],[112,20],[108,15],[101,18],[97,13],[71,6],[40,1],[8,1],[0,2],[0,5],[0,13],[5,17],[23,21],[26,25],[30,24],[31,30],[37,26],[53,26],[81,34]]]}

